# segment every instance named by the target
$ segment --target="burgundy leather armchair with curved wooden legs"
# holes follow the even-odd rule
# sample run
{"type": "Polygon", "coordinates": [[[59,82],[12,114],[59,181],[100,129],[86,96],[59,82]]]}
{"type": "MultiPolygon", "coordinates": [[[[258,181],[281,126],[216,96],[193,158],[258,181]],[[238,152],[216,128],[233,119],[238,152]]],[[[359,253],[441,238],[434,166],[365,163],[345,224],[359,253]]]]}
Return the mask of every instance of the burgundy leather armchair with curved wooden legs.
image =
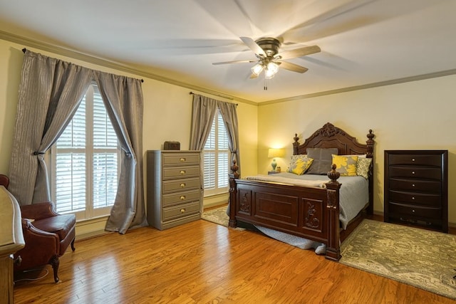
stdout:
{"type": "MultiPolygon", "coordinates": [[[[0,184],[7,189],[9,179],[0,174],[0,184]]],[[[58,214],[53,203],[46,201],[38,204],[21,206],[22,231],[26,245],[14,253],[19,263],[15,271],[50,264],[53,268],[54,281],[58,282],[59,257],[71,245],[75,251],[76,216],[74,214],[58,214]]]]}

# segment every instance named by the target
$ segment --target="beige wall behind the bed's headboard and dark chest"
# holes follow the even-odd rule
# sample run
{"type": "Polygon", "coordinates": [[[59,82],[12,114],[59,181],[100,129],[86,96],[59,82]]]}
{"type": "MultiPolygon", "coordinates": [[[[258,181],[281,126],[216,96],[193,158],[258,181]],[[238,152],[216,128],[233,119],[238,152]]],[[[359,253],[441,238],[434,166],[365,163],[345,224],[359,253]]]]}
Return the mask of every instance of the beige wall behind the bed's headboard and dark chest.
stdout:
{"type": "Polygon", "coordinates": [[[385,87],[260,105],[258,114],[259,173],[270,167],[269,147],[286,148],[278,159],[288,167],[294,133],[303,139],[331,122],[360,142],[375,134],[374,210],[383,213],[384,150],[448,150],[449,221],[456,226],[456,75],[385,87]]]}

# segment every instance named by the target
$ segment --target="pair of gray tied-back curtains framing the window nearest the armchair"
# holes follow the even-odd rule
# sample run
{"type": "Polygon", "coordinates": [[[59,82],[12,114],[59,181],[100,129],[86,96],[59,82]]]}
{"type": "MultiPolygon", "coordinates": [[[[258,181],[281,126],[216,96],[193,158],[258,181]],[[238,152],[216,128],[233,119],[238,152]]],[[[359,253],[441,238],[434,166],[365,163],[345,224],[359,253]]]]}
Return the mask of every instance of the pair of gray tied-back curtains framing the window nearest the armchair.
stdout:
{"type": "Polygon", "coordinates": [[[51,199],[43,154],[65,130],[94,79],[123,149],[118,194],[106,230],[124,234],[128,228],[147,224],[142,189],[140,80],[26,51],[9,166],[9,191],[21,205],[51,199]]]}

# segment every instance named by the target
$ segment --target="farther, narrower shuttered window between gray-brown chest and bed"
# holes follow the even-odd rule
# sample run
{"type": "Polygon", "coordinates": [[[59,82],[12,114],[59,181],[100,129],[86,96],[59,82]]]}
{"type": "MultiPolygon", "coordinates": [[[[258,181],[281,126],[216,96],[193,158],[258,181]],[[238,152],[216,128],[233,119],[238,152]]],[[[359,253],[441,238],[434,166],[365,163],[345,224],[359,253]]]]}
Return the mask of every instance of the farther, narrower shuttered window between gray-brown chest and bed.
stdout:
{"type": "Polygon", "coordinates": [[[214,116],[211,132],[203,149],[204,195],[228,192],[229,146],[222,114],[214,116]]]}

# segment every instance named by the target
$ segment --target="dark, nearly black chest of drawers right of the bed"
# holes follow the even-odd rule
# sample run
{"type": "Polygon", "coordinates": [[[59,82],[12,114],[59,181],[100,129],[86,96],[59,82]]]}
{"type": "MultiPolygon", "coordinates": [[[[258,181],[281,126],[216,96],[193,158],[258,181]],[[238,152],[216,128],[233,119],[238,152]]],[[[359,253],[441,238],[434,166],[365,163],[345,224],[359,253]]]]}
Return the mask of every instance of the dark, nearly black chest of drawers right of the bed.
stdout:
{"type": "Polygon", "coordinates": [[[447,150],[385,150],[385,221],[448,232],[447,179],[447,150]]]}

